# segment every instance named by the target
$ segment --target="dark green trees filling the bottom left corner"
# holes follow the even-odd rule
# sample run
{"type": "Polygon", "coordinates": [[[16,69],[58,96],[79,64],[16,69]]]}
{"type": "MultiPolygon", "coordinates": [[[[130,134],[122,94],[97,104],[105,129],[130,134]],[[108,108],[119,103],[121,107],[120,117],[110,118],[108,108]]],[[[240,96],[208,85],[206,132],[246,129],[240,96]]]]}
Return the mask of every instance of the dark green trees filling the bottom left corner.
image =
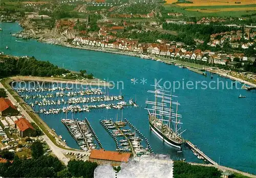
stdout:
{"type": "MultiPolygon", "coordinates": [[[[8,151],[9,152],[9,151],[8,151]]],[[[14,156],[12,163],[0,163],[0,176],[4,177],[93,177],[97,163],[69,161],[68,166],[53,156],[44,156],[40,141],[31,145],[32,159],[14,156]]],[[[0,155],[1,156],[1,155],[0,155]]]]}

